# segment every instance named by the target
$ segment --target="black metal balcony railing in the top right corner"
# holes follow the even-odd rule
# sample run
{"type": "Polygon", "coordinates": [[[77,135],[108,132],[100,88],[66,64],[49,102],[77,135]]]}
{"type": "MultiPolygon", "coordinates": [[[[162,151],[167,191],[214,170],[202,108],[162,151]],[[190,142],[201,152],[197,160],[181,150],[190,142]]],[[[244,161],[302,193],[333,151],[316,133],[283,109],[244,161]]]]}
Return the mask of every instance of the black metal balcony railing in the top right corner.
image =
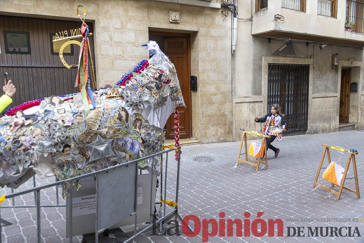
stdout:
{"type": "Polygon", "coordinates": [[[364,33],[364,1],[346,0],[345,30],[364,33]]]}

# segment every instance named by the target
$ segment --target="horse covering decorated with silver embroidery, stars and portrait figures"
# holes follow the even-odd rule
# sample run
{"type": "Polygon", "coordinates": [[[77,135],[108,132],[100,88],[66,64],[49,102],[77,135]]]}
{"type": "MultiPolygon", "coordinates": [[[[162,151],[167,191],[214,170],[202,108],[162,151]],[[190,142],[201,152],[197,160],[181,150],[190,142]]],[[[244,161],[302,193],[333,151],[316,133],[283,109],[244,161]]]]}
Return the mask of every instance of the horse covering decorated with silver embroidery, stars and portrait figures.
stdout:
{"type": "MultiPolygon", "coordinates": [[[[82,92],[5,111],[0,119],[1,187],[17,188],[35,174],[68,179],[161,151],[167,119],[185,103],[174,65],[157,43],[149,42],[147,50],[153,56],[114,86],[87,94],[86,112],[82,92]]],[[[160,163],[157,156],[139,167],[159,173],[160,163]]]]}

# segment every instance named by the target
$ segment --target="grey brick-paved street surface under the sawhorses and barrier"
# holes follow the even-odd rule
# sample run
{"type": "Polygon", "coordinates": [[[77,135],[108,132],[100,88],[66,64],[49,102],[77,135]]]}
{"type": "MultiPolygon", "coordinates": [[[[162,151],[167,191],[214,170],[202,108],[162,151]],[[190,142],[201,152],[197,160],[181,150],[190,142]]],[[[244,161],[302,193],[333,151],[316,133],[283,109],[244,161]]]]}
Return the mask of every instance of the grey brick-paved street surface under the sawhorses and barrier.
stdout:
{"type": "MultiPolygon", "coordinates": [[[[179,213],[182,217],[196,215],[200,219],[219,219],[219,212],[224,212],[224,219],[244,220],[248,211],[253,222],[257,212],[264,212],[262,218],[282,219],[284,222],[284,237],[268,237],[268,234],[256,238],[250,237],[210,237],[209,242],[249,242],[249,243],[281,243],[281,242],[364,242],[363,237],[287,237],[286,227],[358,227],[364,235],[362,222],[288,222],[292,220],[338,220],[364,218],[364,200],[357,199],[354,193],[343,191],[341,199],[336,200],[321,188],[312,189],[314,177],[322,156],[322,143],[357,149],[356,156],[359,187],[364,181],[364,132],[345,131],[338,133],[314,134],[284,137],[282,141],[274,141],[273,145],[281,149],[280,156],[274,158],[272,151],[268,152],[268,169],[255,172],[247,164],[240,163],[234,168],[240,142],[218,144],[202,144],[182,147],[179,213]],[[205,156],[205,157],[196,157],[205,156]]],[[[344,154],[346,156],[347,154],[344,154]]],[[[341,159],[344,166],[347,157],[341,159]]],[[[337,161],[340,154],[331,151],[331,158],[337,161]]],[[[327,160],[325,160],[327,163],[327,160]]],[[[170,174],[176,173],[176,161],[169,160],[170,174]]],[[[263,165],[261,166],[263,167],[263,165]]],[[[321,177],[321,176],[320,176],[321,177]]],[[[353,177],[352,166],[348,177],[353,177]]],[[[54,178],[37,179],[37,185],[53,182],[54,178]]],[[[319,182],[330,186],[324,179],[319,182]]],[[[345,181],[349,188],[355,188],[354,180],[345,181]]],[[[20,189],[32,187],[32,181],[22,185],[20,189]]],[[[336,187],[337,188],[337,187],[336,187]]],[[[170,185],[167,199],[174,200],[175,185],[170,185]]],[[[363,191],[363,190],[362,190],[363,191]]],[[[0,189],[0,194],[10,193],[9,189],[0,189]]],[[[362,192],[363,193],[363,192],[362,192]]],[[[362,198],[364,195],[362,194],[362,198]]],[[[55,203],[55,190],[41,192],[42,203],[55,203]]],[[[34,197],[25,195],[15,200],[16,205],[34,205],[34,197]]],[[[60,203],[64,201],[60,197],[60,203]]],[[[2,204],[9,205],[9,202],[2,204]]],[[[68,242],[65,238],[65,208],[43,208],[41,213],[42,236],[44,242],[68,242]]],[[[34,208],[1,209],[1,217],[13,223],[3,227],[2,237],[6,242],[35,242],[36,213],[34,208]]],[[[128,230],[130,228],[124,228],[128,230]]],[[[235,232],[235,230],[234,230],[235,232]]],[[[347,232],[347,231],[346,231],[347,232]]],[[[182,230],[180,230],[182,234],[182,230]]],[[[305,230],[307,235],[307,230],[305,230]]],[[[81,237],[75,237],[79,242],[81,237]]],[[[194,238],[182,236],[152,236],[149,233],[141,235],[136,242],[202,242],[201,234],[194,238]]]]}

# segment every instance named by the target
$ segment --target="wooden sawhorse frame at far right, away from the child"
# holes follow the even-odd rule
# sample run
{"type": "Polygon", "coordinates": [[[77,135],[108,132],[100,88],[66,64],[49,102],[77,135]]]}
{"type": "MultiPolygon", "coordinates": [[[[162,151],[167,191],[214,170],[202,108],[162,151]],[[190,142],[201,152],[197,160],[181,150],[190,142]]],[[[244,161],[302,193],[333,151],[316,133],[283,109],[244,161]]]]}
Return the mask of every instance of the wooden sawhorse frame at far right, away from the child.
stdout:
{"type": "MultiPolygon", "coordinates": [[[[313,183],[313,188],[315,188],[316,186],[318,187],[321,187],[321,188],[324,188],[325,190],[329,191],[329,192],[332,192],[334,193],[335,195],[337,195],[336,199],[339,200],[340,199],[340,196],[341,196],[341,192],[343,192],[343,189],[349,191],[349,192],[352,192],[352,193],[355,193],[356,194],[356,197],[358,199],[360,199],[360,193],[359,193],[359,183],[358,183],[358,174],[357,174],[357,171],[356,171],[356,160],[355,160],[355,154],[358,154],[358,152],[351,152],[350,150],[348,149],[343,149],[343,148],[337,148],[335,146],[330,146],[330,145],[326,145],[326,144],[322,144],[322,146],[324,147],[324,152],[322,154],[322,158],[321,158],[321,162],[320,162],[320,166],[318,167],[318,170],[317,170],[317,174],[316,174],[316,178],[315,178],[315,181],[313,183]],[[333,189],[331,188],[328,188],[328,187],[325,187],[324,185],[321,185],[319,183],[317,183],[317,179],[318,179],[318,175],[320,174],[320,171],[321,171],[321,167],[322,167],[322,164],[324,162],[324,158],[325,158],[325,153],[327,153],[327,158],[329,160],[329,164],[331,163],[331,158],[330,158],[330,151],[329,149],[335,149],[335,150],[339,150],[339,151],[342,151],[342,152],[346,152],[346,153],[349,153],[349,158],[348,158],[348,161],[346,162],[346,166],[345,166],[345,171],[344,171],[344,176],[343,176],[343,180],[341,181],[341,184],[339,186],[339,191],[334,191],[333,189]],[[348,173],[348,169],[349,169],[349,165],[350,165],[350,161],[353,161],[353,169],[354,169],[354,177],[353,178],[346,178],[346,175],[348,173]],[[347,188],[347,187],[344,187],[344,183],[345,183],[345,179],[355,179],[355,188],[356,188],[356,191],[354,191],[353,189],[350,189],[350,188],[347,188]]],[[[335,184],[331,183],[331,187],[334,187],[335,184]]]]}

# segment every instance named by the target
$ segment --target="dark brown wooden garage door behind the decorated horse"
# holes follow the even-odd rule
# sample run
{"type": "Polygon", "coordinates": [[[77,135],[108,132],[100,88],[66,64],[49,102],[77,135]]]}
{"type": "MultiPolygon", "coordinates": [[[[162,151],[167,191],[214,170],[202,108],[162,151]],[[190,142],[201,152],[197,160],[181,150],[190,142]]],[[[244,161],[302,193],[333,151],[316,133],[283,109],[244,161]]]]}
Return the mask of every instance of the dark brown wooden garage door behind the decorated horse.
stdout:
{"type": "MultiPolygon", "coordinates": [[[[92,24],[87,24],[90,32],[92,32],[92,24]]],[[[63,95],[79,91],[79,88],[74,87],[77,68],[70,70],[64,67],[58,53],[52,54],[51,35],[64,30],[70,32],[70,30],[80,27],[81,21],[0,15],[0,81],[3,82],[4,80],[4,72],[8,72],[9,78],[16,86],[16,94],[11,106],[51,95],[63,95]],[[19,36],[26,38],[27,35],[29,36],[29,43],[16,42],[16,38],[20,38],[19,36]],[[17,43],[15,47],[12,46],[11,40],[6,39],[7,37],[13,38],[12,41],[17,43]],[[7,45],[8,49],[5,50],[7,45]]],[[[69,34],[69,36],[71,35],[69,34]]],[[[76,40],[80,41],[81,39],[76,40]]],[[[90,38],[90,46],[92,53],[94,53],[92,37],[90,38]]],[[[72,49],[73,53],[70,50],[71,53],[64,55],[68,64],[78,62],[80,48],[77,45],[72,45],[72,49]]]]}

